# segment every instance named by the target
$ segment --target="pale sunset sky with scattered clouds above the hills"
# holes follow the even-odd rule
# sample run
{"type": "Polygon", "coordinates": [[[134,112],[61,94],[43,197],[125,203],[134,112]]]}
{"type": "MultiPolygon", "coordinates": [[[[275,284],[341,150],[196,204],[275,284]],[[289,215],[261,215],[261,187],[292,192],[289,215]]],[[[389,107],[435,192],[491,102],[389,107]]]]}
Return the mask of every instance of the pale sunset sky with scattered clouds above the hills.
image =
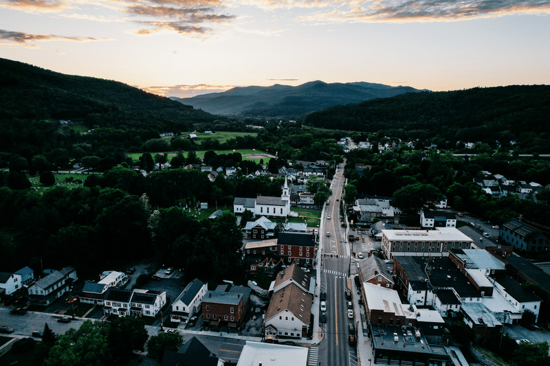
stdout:
{"type": "Polygon", "coordinates": [[[0,57],[181,98],[550,84],[550,0],[0,0],[0,57]]]}

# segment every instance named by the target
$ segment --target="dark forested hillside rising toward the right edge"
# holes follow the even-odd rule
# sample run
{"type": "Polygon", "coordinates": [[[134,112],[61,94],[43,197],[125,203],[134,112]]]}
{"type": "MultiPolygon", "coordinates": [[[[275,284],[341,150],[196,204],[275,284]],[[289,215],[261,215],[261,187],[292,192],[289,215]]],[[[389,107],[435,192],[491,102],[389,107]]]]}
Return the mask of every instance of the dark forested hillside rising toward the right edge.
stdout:
{"type": "MultiPolygon", "coordinates": [[[[550,86],[509,86],[462,91],[407,93],[393,98],[335,106],[301,121],[322,128],[340,127],[419,139],[456,148],[456,142],[482,141],[520,152],[550,152],[550,86]]],[[[438,146],[439,148],[439,146],[438,146]]]]}

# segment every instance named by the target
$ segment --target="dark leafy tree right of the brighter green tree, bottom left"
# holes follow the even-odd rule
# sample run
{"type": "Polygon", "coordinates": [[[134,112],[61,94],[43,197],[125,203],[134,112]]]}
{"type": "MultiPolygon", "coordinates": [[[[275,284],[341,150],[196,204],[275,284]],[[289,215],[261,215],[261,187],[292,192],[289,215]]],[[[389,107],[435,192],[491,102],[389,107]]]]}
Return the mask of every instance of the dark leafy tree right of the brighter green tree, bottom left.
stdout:
{"type": "Polygon", "coordinates": [[[133,350],[145,350],[148,337],[143,319],[131,316],[113,319],[109,327],[109,344],[113,347],[113,358],[119,362],[128,361],[133,350]]]}

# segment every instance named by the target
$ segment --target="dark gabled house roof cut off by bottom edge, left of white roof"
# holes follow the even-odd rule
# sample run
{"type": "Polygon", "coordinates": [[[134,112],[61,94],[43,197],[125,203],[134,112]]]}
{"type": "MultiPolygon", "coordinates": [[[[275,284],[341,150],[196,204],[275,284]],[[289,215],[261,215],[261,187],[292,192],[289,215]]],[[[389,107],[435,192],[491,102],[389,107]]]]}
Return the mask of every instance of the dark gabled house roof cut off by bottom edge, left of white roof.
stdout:
{"type": "Polygon", "coordinates": [[[189,341],[177,350],[164,351],[161,366],[223,366],[225,362],[216,357],[206,348],[197,337],[193,336],[189,341]]]}

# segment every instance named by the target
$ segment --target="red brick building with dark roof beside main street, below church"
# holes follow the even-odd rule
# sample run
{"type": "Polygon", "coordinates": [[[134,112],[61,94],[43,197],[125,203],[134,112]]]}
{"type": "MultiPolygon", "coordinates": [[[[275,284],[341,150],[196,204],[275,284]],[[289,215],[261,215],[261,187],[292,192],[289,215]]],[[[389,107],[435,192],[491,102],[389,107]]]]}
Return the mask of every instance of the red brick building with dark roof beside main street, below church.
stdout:
{"type": "Polygon", "coordinates": [[[315,258],[314,235],[312,233],[279,233],[277,249],[285,264],[295,262],[298,266],[311,267],[315,258]]]}

